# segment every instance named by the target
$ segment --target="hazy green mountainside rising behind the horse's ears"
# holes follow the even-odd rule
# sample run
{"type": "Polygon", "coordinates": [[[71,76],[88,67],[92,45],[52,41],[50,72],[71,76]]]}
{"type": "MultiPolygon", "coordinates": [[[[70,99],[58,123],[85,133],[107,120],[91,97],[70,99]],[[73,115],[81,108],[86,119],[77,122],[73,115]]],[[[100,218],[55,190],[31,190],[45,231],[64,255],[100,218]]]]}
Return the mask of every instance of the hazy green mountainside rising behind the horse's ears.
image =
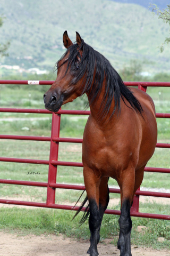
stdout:
{"type": "Polygon", "coordinates": [[[170,50],[165,47],[163,53],[159,52],[159,46],[169,36],[169,26],[139,4],[111,0],[1,0],[0,15],[5,17],[0,43],[11,42],[9,56],[3,57],[1,66],[51,71],[65,51],[62,36],[67,30],[73,42],[78,31],[117,70],[137,59],[144,63],[143,71],[150,74],[169,72],[170,50]]]}

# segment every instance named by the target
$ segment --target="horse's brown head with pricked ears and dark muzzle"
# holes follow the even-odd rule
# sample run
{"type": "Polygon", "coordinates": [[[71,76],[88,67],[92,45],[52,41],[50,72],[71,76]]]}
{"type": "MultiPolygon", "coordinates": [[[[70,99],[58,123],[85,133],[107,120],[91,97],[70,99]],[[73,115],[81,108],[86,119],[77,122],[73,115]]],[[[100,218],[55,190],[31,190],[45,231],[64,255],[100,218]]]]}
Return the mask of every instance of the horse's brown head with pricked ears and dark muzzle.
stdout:
{"type": "Polygon", "coordinates": [[[82,94],[83,76],[80,76],[81,39],[77,33],[77,44],[73,44],[67,35],[63,34],[63,43],[67,51],[57,62],[57,78],[50,89],[44,94],[45,108],[57,112],[61,106],[73,101],[82,94]]]}

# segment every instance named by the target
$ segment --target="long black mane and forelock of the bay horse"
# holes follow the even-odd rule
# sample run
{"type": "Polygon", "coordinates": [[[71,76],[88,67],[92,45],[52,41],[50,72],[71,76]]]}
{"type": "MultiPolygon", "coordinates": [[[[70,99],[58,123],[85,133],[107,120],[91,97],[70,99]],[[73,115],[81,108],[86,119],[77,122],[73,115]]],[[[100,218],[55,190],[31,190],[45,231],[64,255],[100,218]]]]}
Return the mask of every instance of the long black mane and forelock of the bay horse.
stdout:
{"type": "Polygon", "coordinates": [[[126,99],[130,103],[131,107],[135,109],[135,111],[139,111],[140,114],[142,113],[143,110],[137,98],[135,98],[130,89],[124,85],[120,75],[118,75],[111,63],[102,54],[95,51],[88,44],[84,43],[82,39],[80,45],[74,43],[69,47],[69,49],[67,49],[62,58],[57,61],[57,68],[59,62],[66,56],[67,53],[69,53],[69,58],[62,63],[63,65],[65,62],[67,62],[65,74],[70,67],[74,77],[71,84],[76,84],[79,79],[84,76],[82,83],[82,94],[90,91],[91,97],[89,100],[89,106],[99,97],[103,83],[105,83],[105,92],[103,95],[103,101],[101,103],[101,111],[99,113],[100,117],[104,118],[108,114],[113,99],[115,101],[115,106],[111,116],[113,116],[116,110],[118,113],[121,110],[121,98],[125,104],[126,99]],[[79,51],[82,52],[82,56],[80,55],[79,51]],[[79,67],[78,70],[77,66],[79,67]]]}

